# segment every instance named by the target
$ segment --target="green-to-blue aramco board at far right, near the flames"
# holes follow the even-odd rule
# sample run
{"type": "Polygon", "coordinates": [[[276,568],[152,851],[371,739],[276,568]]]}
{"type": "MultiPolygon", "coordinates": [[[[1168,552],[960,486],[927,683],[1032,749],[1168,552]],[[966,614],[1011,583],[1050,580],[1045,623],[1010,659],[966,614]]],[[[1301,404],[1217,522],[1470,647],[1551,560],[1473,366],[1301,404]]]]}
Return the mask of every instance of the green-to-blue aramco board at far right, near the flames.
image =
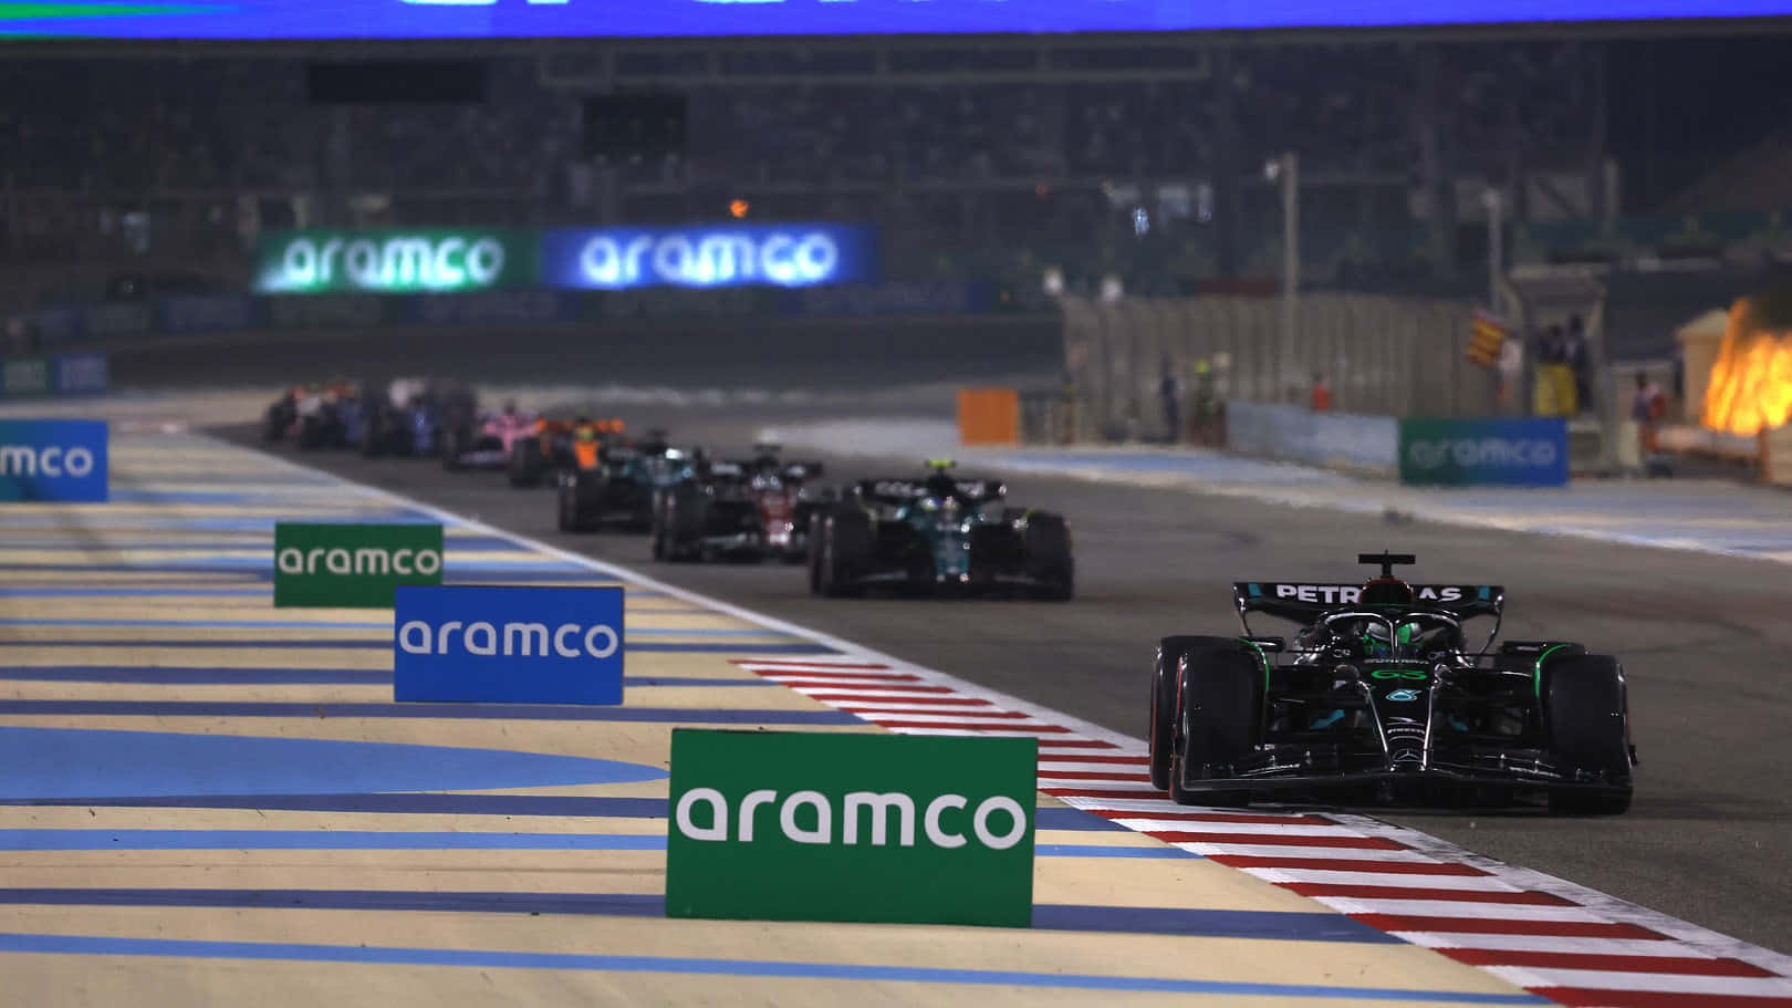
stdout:
{"type": "Polygon", "coordinates": [[[1566,486],[1563,420],[1401,420],[1400,482],[1566,486]]]}

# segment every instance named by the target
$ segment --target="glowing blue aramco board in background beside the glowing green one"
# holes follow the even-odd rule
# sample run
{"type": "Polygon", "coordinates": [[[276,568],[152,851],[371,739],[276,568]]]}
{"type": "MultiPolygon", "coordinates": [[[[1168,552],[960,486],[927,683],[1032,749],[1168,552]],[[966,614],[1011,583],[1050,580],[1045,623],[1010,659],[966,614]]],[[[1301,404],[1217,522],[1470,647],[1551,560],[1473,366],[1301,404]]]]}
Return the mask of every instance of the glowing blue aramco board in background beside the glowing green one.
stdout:
{"type": "Polygon", "coordinates": [[[552,230],[543,287],[823,287],[876,280],[876,231],[851,224],[552,230]]]}

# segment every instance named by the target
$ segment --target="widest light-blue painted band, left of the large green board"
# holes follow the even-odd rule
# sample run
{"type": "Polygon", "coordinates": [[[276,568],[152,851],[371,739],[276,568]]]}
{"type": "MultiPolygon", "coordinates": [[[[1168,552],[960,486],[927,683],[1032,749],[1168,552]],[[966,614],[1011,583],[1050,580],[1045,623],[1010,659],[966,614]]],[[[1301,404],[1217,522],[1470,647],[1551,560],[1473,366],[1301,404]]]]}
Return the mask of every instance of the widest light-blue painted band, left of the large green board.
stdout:
{"type": "Polygon", "coordinates": [[[658,766],[401,743],[0,726],[0,798],[564,787],[661,780],[658,766]]]}

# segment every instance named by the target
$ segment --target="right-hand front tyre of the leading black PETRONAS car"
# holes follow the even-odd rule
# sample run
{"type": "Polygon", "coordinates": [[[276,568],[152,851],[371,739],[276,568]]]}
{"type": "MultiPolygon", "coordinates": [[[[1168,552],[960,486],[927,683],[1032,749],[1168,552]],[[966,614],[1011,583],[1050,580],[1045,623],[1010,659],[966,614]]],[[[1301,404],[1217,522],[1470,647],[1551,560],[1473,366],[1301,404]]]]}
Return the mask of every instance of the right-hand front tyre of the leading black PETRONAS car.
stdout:
{"type": "Polygon", "coordinates": [[[1631,807],[1631,726],[1624,665],[1566,655],[1543,665],[1543,717],[1555,764],[1593,787],[1550,791],[1550,812],[1615,816],[1631,807]]]}

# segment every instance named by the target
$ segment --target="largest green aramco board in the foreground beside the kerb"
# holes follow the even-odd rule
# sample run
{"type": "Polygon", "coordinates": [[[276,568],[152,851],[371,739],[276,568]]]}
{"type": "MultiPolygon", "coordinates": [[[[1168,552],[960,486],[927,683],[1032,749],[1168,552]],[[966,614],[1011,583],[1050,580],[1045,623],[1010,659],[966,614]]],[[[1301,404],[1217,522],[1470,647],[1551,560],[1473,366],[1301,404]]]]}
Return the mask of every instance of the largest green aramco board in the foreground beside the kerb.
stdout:
{"type": "Polygon", "coordinates": [[[677,728],[667,915],[1027,927],[1038,750],[677,728]]]}

